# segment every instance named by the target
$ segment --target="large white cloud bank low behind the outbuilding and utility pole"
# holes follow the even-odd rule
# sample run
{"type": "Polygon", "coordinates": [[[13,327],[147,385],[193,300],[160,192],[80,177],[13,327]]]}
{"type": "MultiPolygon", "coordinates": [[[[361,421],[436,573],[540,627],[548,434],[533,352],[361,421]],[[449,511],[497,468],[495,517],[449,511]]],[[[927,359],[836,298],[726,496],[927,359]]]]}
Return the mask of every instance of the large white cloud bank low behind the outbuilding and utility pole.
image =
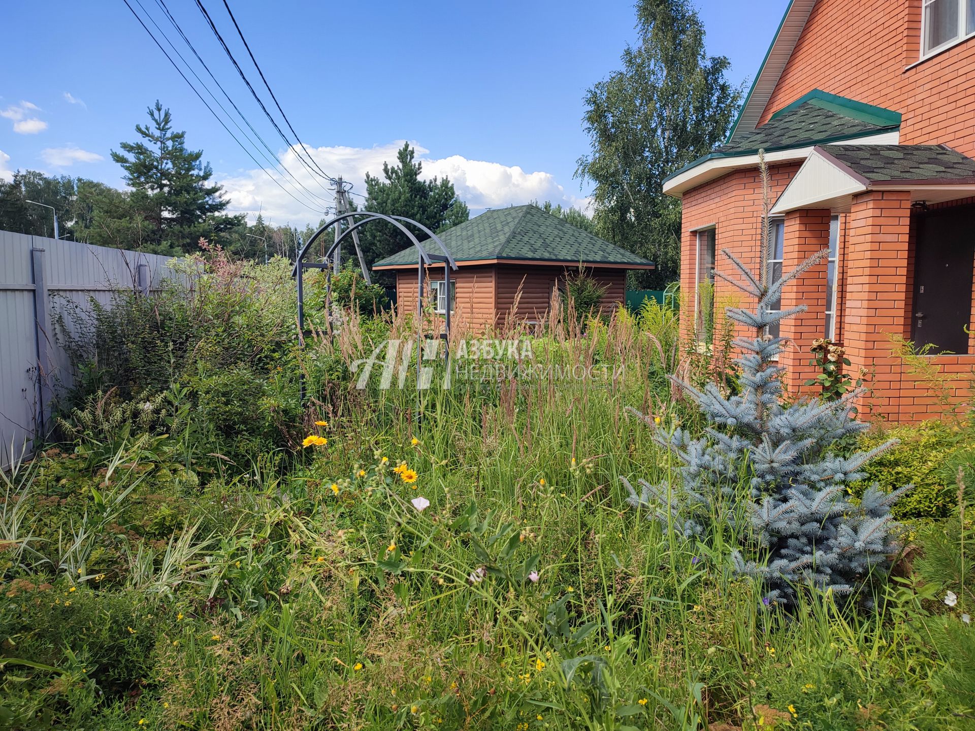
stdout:
{"type": "MultiPolygon", "coordinates": [[[[331,175],[341,175],[353,183],[353,192],[366,192],[366,173],[382,176],[383,162],[396,164],[396,153],[403,147],[404,140],[398,139],[373,147],[308,147],[309,156],[331,175]]],[[[451,155],[442,159],[427,156],[429,150],[415,142],[410,142],[416,151],[416,158],[423,163],[424,178],[447,175],[457,191],[457,195],[474,212],[487,208],[517,206],[531,200],[552,201],[563,206],[575,206],[588,212],[591,202],[588,198],[573,196],[565,191],[551,173],[526,173],[518,166],[506,166],[481,160],[469,160],[461,155],[451,155]]],[[[312,199],[318,208],[331,206],[332,197],[329,182],[313,176],[301,165],[295,148],[289,148],[281,156],[282,164],[323,201],[312,199]],[[321,183],[321,186],[319,185],[321,183]],[[324,186],[324,190],[323,187],[324,186]]],[[[305,200],[291,185],[284,181],[281,173],[275,173],[281,184],[295,198],[305,200]]],[[[276,223],[291,221],[292,224],[314,223],[322,214],[309,211],[282,190],[260,169],[243,171],[238,174],[217,175],[224,192],[231,200],[230,210],[247,212],[253,216],[258,210],[265,220],[276,223]]],[[[362,198],[354,197],[361,204],[362,198]]],[[[309,203],[312,205],[312,203],[309,203]]],[[[252,218],[253,219],[253,218],[252,218]]]]}

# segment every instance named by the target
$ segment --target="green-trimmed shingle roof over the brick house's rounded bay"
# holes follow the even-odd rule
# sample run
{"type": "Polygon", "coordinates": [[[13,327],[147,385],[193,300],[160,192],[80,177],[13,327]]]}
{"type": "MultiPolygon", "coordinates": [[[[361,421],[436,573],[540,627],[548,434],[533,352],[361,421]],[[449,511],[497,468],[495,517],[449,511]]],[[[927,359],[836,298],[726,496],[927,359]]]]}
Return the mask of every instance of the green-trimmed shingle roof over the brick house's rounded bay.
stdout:
{"type": "Polygon", "coordinates": [[[714,158],[755,155],[759,150],[774,152],[880,135],[893,132],[900,125],[898,112],[814,89],[779,109],[761,127],[735,135],[734,141],[722,144],[714,152],[668,175],[664,182],[714,158]]]}

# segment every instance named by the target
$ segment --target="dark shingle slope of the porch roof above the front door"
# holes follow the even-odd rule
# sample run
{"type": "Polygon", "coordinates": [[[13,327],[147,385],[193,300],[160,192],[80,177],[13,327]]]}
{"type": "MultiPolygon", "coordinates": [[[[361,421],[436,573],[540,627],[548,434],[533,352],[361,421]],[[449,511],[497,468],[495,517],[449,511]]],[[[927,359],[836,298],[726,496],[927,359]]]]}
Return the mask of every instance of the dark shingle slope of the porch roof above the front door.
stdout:
{"type": "Polygon", "coordinates": [[[831,144],[820,151],[869,182],[975,180],[975,160],[943,144],[831,144]]]}

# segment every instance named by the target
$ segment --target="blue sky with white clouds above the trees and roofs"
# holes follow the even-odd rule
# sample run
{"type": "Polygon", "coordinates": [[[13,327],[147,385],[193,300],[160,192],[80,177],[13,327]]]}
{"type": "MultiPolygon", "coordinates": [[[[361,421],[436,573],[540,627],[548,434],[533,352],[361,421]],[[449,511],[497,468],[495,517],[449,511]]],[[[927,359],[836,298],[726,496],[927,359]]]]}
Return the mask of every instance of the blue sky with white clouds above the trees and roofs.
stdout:
{"type": "MultiPolygon", "coordinates": [[[[202,1],[263,93],[222,1],[202,1]]],[[[381,173],[382,161],[409,140],[425,172],[448,174],[474,212],[532,198],[585,204],[590,188],[572,176],[589,149],[582,98],[619,67],[624,46],[636,39],[631,2],[228,2],[315,162],[352,180],[356,191],[365,192],[366,171],[381,173]]],[[[159,23],[221,96],[158,0],[130,3],[159,23]]],[[[756,73],[786,4],[698,0],[708,51],[730,58],[732,80],[756,73]]],[[[262,115],[195,3],[166,6],[283,165],[327,198],[262,115]]],[[[227,135],[122,0],[3,3],[0,25],[7,29],[0,177],[33,169],[121,186],[109,150],[135,138],[145,107],[159,98],[176,129],[187,131],[188,145],[205,151],[233,210],[253,220],[261,208],[276,223],[320,217],[227,135]]]]}

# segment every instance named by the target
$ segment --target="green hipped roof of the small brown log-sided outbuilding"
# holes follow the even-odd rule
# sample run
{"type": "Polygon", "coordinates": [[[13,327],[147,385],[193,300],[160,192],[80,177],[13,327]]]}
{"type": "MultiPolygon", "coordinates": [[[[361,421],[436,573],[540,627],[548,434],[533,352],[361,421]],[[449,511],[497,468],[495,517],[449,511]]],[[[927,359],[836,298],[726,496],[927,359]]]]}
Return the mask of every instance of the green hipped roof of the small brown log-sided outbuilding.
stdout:
{"type": "MultiPolygon", "coordinates": [[[[584,261],[651,266],[651,262],[643,257],[620,249],[532,205],[489,210],[438,236],[454,261],[458,262],[531,259],[559,263],[584,261]]],[[[443,255],[443,251],[431,239],[420,244],[428,253],[443,255]]],[[[416,250],[410,247],[387,256],[372,266],[415,266],[416,263],[416,250]]]]}

